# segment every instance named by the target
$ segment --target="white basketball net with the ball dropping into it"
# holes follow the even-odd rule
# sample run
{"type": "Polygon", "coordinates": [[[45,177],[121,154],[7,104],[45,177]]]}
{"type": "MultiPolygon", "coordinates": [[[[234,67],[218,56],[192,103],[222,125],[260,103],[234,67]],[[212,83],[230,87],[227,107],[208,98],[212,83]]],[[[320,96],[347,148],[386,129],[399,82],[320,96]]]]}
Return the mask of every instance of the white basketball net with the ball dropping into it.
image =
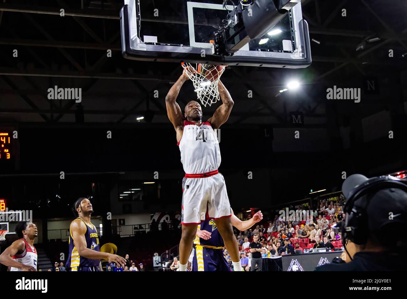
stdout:
{"type": "Polygon", "coordinates": [[[182,67],[189,79],[191,79],[197,93],[197,98],[201,100],[204,107],[219,101],[218,83],[225,70],[224,65],[182,63],[182,67]]]}

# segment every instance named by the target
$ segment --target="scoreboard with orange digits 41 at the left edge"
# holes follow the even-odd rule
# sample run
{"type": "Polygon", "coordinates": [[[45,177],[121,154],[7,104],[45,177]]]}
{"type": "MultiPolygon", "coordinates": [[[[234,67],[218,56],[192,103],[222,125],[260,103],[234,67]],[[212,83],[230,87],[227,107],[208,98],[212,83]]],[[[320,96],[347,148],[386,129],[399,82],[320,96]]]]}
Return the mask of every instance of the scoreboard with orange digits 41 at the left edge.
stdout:
{"type": "Polygon", "coordinates": [[[18,169],[20,146],[17,126],[0,124],[0,172],[18,169]],[[15,138],[17,137],[17,138],[15,138]]]}

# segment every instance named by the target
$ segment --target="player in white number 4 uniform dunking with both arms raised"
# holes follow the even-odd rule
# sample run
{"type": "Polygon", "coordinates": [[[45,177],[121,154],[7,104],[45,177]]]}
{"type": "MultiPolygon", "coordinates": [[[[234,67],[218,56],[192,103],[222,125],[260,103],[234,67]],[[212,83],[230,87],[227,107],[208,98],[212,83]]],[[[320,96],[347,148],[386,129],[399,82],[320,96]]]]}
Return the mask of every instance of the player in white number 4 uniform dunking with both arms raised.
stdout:
{"type": "Polygon", "coordinates": [[[176,99],[179,90],[188,79],[184,70],[165,98],[168,118],[177,133],[181,162],[185,171],[185,177],[182,180],[182,237],[179,242],[179,271],[186,271],[188,256],[192,250],[192,240],[197,233],[197,225],[201,223],[201,220],[205,220],[205,215],[216,220],[219,233],[232,258],[234,270],[242,271],[239,248],[230,220],[232,214],[225,180],[218,172],[221,153],[214,132],[228,120],[233,100],[223,83],[219,81],[222,105],[216,109],[211,118],[206,122],[202,121],[201,105],[196,101],[188,102],[182,113],[176,99]]]}

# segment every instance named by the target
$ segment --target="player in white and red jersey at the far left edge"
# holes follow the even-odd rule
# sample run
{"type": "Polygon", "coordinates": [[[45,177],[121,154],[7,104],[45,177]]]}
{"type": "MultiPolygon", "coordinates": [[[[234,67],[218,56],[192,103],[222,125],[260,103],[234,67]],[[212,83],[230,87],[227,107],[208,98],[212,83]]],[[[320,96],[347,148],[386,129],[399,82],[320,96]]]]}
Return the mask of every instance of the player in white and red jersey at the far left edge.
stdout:
{"type": "Polygon", "coordinates": [[[15,227],[18,240],[0,255],[0,263],[11,267],[10,271],[37,271],[37,250],[34,240],[38,229],[34,223],[20,221],[15,227]]]}

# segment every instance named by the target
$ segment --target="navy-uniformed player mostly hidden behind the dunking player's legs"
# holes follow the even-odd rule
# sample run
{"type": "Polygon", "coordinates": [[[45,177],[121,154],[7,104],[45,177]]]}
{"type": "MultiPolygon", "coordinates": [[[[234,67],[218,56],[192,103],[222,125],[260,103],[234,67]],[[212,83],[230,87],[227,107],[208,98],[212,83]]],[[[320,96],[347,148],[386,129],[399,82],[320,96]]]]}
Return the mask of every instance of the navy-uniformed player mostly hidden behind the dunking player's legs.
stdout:
{"type": "MultiPolygon", "coordinates": [[[[263,219],[261,211],[258,211],[252,218],[245,221],[237,218],[233,210],[231,212],[232,225],[239,231],[245,231],[263,219]]],[[[192,271],[230,271],[230,267],[223,257],[224,246],[225,244],[219,235],[215,220],[206,219],[202,221],[198,225],[197,236],[194,240],[192,271]]]]}

